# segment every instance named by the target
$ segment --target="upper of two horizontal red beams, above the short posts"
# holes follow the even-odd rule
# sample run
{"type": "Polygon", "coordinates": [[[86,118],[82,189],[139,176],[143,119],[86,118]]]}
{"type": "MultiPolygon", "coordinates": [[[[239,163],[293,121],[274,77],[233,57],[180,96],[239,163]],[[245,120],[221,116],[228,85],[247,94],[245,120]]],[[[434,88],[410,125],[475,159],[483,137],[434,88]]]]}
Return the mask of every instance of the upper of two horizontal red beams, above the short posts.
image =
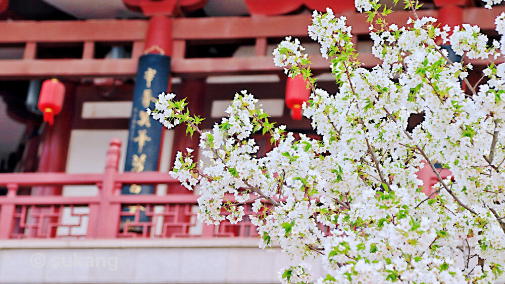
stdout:
{"type": "MultiPolygon", "coordinates": [[[[494,18],[505,7],[492,10],[467,8],[464,22],[479,24],[484,30],[494,29],[494,18]]],[[[421,10],[419,16],[437,16],[436,10],[421,10]]],[[[366,16],[357,12],[343,13],[347,24],[356,34],[368,33],[366,16]]],[[[412,14],[396,11],[388,16],[389,23],[403,24],[412,14]]],[[[256,37],[307,36],[310,15],[274,17],[208,17],[174,19],[174,39],[236,39],[256,37]]],[[[87,20],[87,21],[12,21],[0,22],[0,43],[17,42],[83,42],[143,40],[146,20],[87,20]]]]}

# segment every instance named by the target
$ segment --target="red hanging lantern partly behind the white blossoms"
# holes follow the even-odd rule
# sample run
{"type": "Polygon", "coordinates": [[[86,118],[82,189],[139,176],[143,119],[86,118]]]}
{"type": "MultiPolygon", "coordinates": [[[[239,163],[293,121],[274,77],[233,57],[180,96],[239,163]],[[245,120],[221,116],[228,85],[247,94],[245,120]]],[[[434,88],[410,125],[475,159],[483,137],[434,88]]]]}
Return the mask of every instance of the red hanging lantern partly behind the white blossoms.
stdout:
{"type": "Polygon", "coordinates": [[[311,89],[307,88],[304,76],[297,75],[294,78],[287,78],[286,106],[291,110],[292,119],[301,119],[301,105],[309,100],[310,95],[311,89]]]}

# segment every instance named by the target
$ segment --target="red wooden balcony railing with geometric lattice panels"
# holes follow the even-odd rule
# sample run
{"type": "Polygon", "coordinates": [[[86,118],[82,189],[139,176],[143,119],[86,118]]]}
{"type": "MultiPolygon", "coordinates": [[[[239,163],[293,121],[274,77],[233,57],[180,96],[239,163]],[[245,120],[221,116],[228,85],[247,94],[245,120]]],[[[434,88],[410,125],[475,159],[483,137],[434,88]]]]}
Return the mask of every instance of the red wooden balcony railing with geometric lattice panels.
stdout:
{"type": "MultiPolygon", "coordinates": [[[[247,219],[236,225],[208,226],[196,221],[197,196],[188,194],[120,195],[123,184],[176,183],[168,173],[119,173],[121,141],[111,140],[103,174],[0,174],[0,239],[23,238],[173,238],[257,236],[247,219]],[[22,196],[20,187],[96,185],[96,196],[22,196]],[[126,210],[125,210],[126,209],[126,210]],[[149,218],[140,219],[140,212],[149,218]],[[129,217],[120,229],[121,218],[129,217]]],[[[252,214],[246,205],[246,215],[252,214]]]]}

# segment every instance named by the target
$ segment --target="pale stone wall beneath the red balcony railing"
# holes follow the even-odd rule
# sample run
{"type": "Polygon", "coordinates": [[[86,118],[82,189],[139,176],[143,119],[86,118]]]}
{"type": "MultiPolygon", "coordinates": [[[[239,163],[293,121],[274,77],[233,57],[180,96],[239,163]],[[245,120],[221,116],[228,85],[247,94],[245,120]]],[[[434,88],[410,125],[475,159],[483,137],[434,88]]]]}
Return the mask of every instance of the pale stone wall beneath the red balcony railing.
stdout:
{"type": "MultiPolygon", "coordinates": [[[[0,283],[277,283],[289,261],[258,241],[3,241],[0,283]]],[[[313,266],[315,275],[321,271],[313,266]]]]}

